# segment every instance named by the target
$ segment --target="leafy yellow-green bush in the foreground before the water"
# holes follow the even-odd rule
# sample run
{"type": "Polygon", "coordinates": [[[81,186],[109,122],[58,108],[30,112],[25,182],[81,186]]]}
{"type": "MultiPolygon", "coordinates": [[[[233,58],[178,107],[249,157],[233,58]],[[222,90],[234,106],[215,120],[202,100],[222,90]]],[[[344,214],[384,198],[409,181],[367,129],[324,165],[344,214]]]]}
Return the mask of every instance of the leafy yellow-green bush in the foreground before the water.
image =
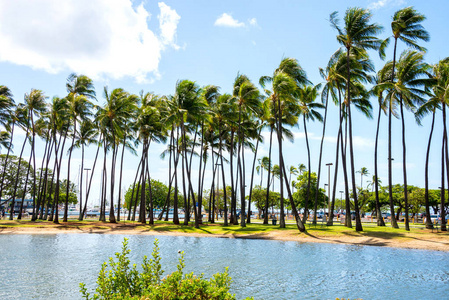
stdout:
{"type": "Polygon", "coordinates": [[[224,273],[217,273],[209,280],[203,274],[195,276],[184,274],[184,253],[181,253],[177,270],[163,278],[158,240],[154,241],[152,259],[144,256],[142,272],[137,266],[131,266],[129,260],[128,239],[123,241],[121,253],[115,253],[115,258],[109,258],[108,264],[103,263],[97,279],[96,293],[91,296],[84,283],[80,283],[85,299],[204,299],[230,300],[235,295],[229,293],[231,277],[228,269],[224,273]]]}

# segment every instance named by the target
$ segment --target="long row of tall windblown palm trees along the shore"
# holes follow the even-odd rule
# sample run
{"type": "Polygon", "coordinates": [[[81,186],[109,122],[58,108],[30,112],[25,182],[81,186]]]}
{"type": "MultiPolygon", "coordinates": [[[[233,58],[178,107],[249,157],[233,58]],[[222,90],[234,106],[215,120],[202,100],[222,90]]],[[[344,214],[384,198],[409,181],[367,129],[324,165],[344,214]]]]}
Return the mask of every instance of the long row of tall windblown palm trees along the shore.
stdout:
{"type": "MultiPolygon", "coordinates": [[[[292,197],[291,174],[294,169],[288,168],[284,162],[283,141],[292,139],[291,127],[302,127],[305,135],[305,147],[307,149],[307,169],[312,170],[311,151],[308,139],[308,122],[318,120],[323,122],[322,136],[320,142],[318,159],[317,185],[321,179],[321,163],[324,137],[326,135],[326,123],[328,120],[329,100],[338,107],[338,134],[335,148],[335,174],[333,180],[330,204],[330,217],[328,225],[332,225],[333,211],[336,199],[336,186],[339,163],[342,164],[345,186],[345,209],[350,214],[352,198],[355,210],[355,229],[363,230],[359,199],[356,185],[356,166],[353,142],[353,113],[355,108],[366,117],[372,117],[372,104],[370,99],[375,97],[379,114],[377,118],[377,131],[375,142],[375,191],[378,194],[378,169],[377,152],[379,126],[382,112],[388,114],[388,183],[390,194],[391,225],[398,228],[394,217],[394,205],[392,200],[392,157],[391,157],[391,132],[392,117],[400,117],[402,121],[402,146],[403,146],[403,179],[404,191],[407,191],[406,170],[406,140],[404,108],[414,113],[417,121],[432,113],[433,122],[426,158],[426,190],[428,190],[428,157],[430,143],[433,134],[433,124],[437,109],[443,114],[443,147],[442,147],[442,178],[441,185],[444,189],[445,178],[449,187],[449,155],[446,130],[446,101],[448,99],[449,62],[448,59],[440,61],[431,66],[424,61],[425,48],[418,42],[429,40],[429,34],[421,25],[425,17],[414,8],[407,7],[399,10],[393,16],[391,24],[392,37],[381,40],[378,35],[383,28],[379,24],[371,22],[372,15],[367,9],[349,8],[340,26],[338,13],[330,15],[331,26],[337,31],[337,41],[341,48],[337,49],[331,56],[327,66],[320,68],[320,74],[324,80],[322,84],[313,85],[307,78],[296,59],[284,58],[279,66],[270,76],[262,76],[259,84],[262,91],[251,82],[244,74],[238,74],[234,80],[231,93],[220,93],[220,88],[213,85],[200,87],[196,82],[180,80],[176,83],[173,95],[159,96],[153,93],[141,92],[140,95],[131,94],[124,89],[117,88],[109,91],[104,89],[104,105],[96,104],[96,95],[92,80],[84,75],[71,74],[67,79],[67,96],[64,98],[53,98],[47,102],[47,97],[40,90],[31,90],[25,95],[22,104],[14,105],[12,94],[5,86],[1,86],[0,101],[0,124],[4,127],[1,132],[1,146],[7,149],[5,161],[12,151],[14,127],[19,126],[26,132],[20,157],[27,142],[30,144],[29,166],[33,166],[36,172],[35,143],[36,136],[45,142],[43,160],[39,181],[33,176],[32,197],[34,202],[33,220],[43,218],[44,214],[49,220],[59,222],[59,181],[61,178],[61,166],[63,154],[67,150],[67,180],[70,181],[71,159],[75,148],[81,148],[81,170],[84,169],[85,147],[96,144],[97,151],[94,163],[91,167],[92,175],[97,166],[99,152],[103,150],[103,167],[101,172],[101,201],[100,220],[106,221],[107,200],[109,200],[109,221],[120,221],[120,210],[115,215],[114,207],[123,203],[120,192],[122,185],[122,170],[125,149],[137,154],[137,147],[141,147],[140,161],[133,185],[133,210],[129,211],[128,219],[135,219],[137,207],[139,207],[139,221],[146,223],[148,213],[150,224],[154,223],[151,184],[149,189],[149,212],[146,211],[146,191],[142,183],[150,182],[150,146],[154,143],[167,143],[167,149],[162,154],[169,157],[169,195],[174,190],[174,216],[173,222],[179,224],[178,217],[178,193],[183,195],[183,207],[185,209],[184,223],[188,224],[193,214],[194,224],[198,227],[202,219],[203,190],[205,189],[205,174],[207,166],[213,174],[212,186],[209,198],[209,222],[214,219],[214,196],[215,175],[220,176],[223,186],[230,185],[230,203],[227,203],[224,195],[224,224],[239,224],[242,227],[250,223],[250,204],[254,184],[254,171],[256,169],[257,151],[262,139],[262,131],[268,130],[269,153],[268,157],[260,159],[257,170],[267,170],[267,197],[265,205],[264,223],[268,223],[268,194],[272,184],[272,176],[279,180],[280,191],[280,227],[285,227],[284,198],[288,198],[292,213],[295,216],[298,230],[305,231],[304,223],[307,214],[313,208],[313,222],[316,223],[318,190],[315,195],[310,193],[310,173],[305,199],[304,214],[300,218],[299,208],[295,206],[292,197]],[[375,73],[375,68],[370,60],[368,50],[378,51],[381,58],[385,58],[385,50],[389,40],[394,39],[393,60],[388,61],[375,73]],[[397,59],[397,42],[402,41],[409,49],[406,49],[397,59]],[[371,88],[368,88],[371,86],[371,88]],[[321,91],[321,101],[320,98],[321,91]],[[399,113],[397,111],[399,107],[399,113]],[[321,110],[324,109],[324,117],[321,110]],[[277,137],[279,156],[275,160],[272,156],[273,134],[277,137]],[[68,149],[66,141],[70,143],[68,149]],[[348,153],[349,145],[349,153],[348,153]],[[120,151],[121,149],[121,151],[120,151]],[[251,150],[252,165],[247,171],[245,149],[251,150]],[[119,162],[120,170],[117,170],[119,162]],[[108,170],[108,158],[110,166],[108,170]],[[194,159],[196,157],[196,159],[194,159]],[[51,173],[51,182],[55,180],[55,191],[53,185],[48,186],[50,166],[53,165],[54,172],[51,173]],[[226,176],[225,163],[229,164],[229,176],[226,176]],[[198,167],[196,167],[198,164],[198,167]],[[263,166],[263,167],[262,167],[263,166]],[[193,171],[197,168],[198,180],[193,182],[193,171]],[[444,172],[446,170],[446,174],[444,172]],[[116,187],[116,174],[119,174],[118,187],[116,187]],[[247,174],[250,174],[249,195],[246,195],[247,174]],[[446,176],[446,177],[445,177],[446,176]],[[55,178],[53,178],[55,177],[55,178]],[[179,180],[182,184],[179,184],[179,180]],[[137,185],[135,183],[138,183],[137,185]],[[134,186],[137,190],[134,193],[134,186]],[[140,188],[142,187],[142,188],[140,188]],[[50,190],[48,190],[50,188],[50,190]],[[287,192],[284,195],[284,192],[287,192]],[[352,191],[352,193],[351,193],[352,191]],[[114,197],[117,193],[117,197],[114,197]],[[53,196],[49,196],[53,195],[53,196]],[[48,199],[51,198],[51,201],[48,199]],[[240,203],[238,203],[240,200],[240,203]],[[246,202],[247,200],[247,202],[246,202]],[[237,208],[240,207],[240,220],[238,220],[237,208]],[[247,218],[245,212],[248,210],[247,218]],[[229,220],[228,220],[229,211],[229,220]]],[[[68,144],[67,143],[67,144],[68,144]]],[[[275,143],[276,144],[276,143],[275,143]]],[[[19,160],[20,161],[20,160],[19,160]]],[[[100,167],[97,167],[97,169],[100,167]]],[[[20,167],[19,167],[20,169],[20,167]]],[[[300,171],[304,166],[300,166],[300,171]]],[[[34,174],[35,175],[35,174],[34,174]]],[[[2,175],[4,176],[4,174],[2,175]]],[[[82,190],[82,172],[80,179],[80,190],[82,190]]],[[[217,181],[219,182],[219,180],[217,181]]],[[[85,199],[80,195],[80,215],[82,220],[87,208],[92,176],[87,186],[85,199]]],[[[27,185],[28,182],[25,182],[27,185]]],[[[261,183],[262,185],[262,174],[261,183]]],[[[26,188],[25,188],[26,189],[26,188]]],[[[68,194],[68,185],[66,194],[68,194]]],[[[226,193],[226,188],[223,189],[226,193]]],[[[405,193],[405,228],[409,230],[407,192],[405,193]]],[[[426,194],[427,195],[427,194],[426,194]]],[[[441,193],[441,214],[444,220],[445,199],[441,193]]],[[[0,198],[2,197],[0,188],[0,198]]],[[[15,193],[7,195],[14,205],[15,193]]],[[[427,197],[427,196],[426,196],[427,197]]],[[[380,216],[380,205],[376,196],[376,213],[380,216]]],[[[68,197],[65,198],[63,221],[67,221],[68,197]]],[[[169,196],[163,207],[163,212],[158,219],[168,219],[170,209],[169,196]]],[[[429,210],[428,205],[426,210],[429,210]]],[[[429,213],[429,211],[428,211],[429,213]]],[[[21,217],[19,214],[18,217],[21,217]]],[[[10,218],[13,218],[11,214],[10,218]]],[[[384,226],[381,218],[378,225],[384,226]]],[[[346,218],[345,225],[352,227],[351,218],[346,218]]],[[[428,222],[427,227],[432,224],[428,222]]],[[[444,226],[442,226],[445,229],[444,226]]]]}

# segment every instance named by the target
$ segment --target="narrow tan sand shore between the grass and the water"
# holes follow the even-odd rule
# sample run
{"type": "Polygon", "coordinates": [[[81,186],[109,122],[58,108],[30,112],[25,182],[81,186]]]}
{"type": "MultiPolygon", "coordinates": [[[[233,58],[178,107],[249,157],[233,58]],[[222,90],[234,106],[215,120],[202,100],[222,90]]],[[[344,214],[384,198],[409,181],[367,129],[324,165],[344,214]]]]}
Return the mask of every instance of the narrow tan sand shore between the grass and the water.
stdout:
{"type": "MultiPolygon", "coordinates": [[[[21,223],[23,224],[23,223],[21,223]]],[[[447,232],[431,233],[431,231],[410,232],[394,235],[389,233],[383,236],[375,236],[372,233],[357,233],[355,231],[344,234],[327,234],[310,230],[308,233],[299,233],[295,230],[276,230],[248,234],[216,234],[182,232],[175,230],[158,230],[163,228],[156,226],[140,226],[138,224],[110,224],[102,222],[85,223],[36,223],[28,226],[14,226],[12,223],[0,223],[0,234],[58,234],[58,233],[85,233],[85,234],[141,234],[141,235],[169,235],[169,236],[193,236],[215,238],[242,238],[265,239],[279,241],[295,241],[304,243],[334,243],[344,245],[382,246],[406,249],[421,249],[435,251],[449,251],[449,234],[447,232]]],[[[217,226],[217,225],[209,225],[217,226]]],[[[206,226],[206,227],[209,227],[206,226]]],[[[207,230],[205,230],[207,232],[207,230]]]]}

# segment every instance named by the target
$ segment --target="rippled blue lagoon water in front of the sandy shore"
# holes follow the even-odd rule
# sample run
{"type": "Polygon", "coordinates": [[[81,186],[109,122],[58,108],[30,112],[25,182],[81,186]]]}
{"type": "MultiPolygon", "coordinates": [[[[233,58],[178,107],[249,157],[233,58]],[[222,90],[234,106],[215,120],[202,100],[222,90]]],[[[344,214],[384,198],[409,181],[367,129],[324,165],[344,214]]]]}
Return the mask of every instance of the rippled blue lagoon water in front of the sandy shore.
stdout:
{"type": "MultiPolygon", "coordinates": [[[[81,299],[125,235],[0,235],[0,299],[81,299]]],[[[166,272],[185,252],[186,272],[229,266],[238,299],[449,299],[449,252],[266,240],[130,235],[140,264],[159,240],[166,272]]]]}

